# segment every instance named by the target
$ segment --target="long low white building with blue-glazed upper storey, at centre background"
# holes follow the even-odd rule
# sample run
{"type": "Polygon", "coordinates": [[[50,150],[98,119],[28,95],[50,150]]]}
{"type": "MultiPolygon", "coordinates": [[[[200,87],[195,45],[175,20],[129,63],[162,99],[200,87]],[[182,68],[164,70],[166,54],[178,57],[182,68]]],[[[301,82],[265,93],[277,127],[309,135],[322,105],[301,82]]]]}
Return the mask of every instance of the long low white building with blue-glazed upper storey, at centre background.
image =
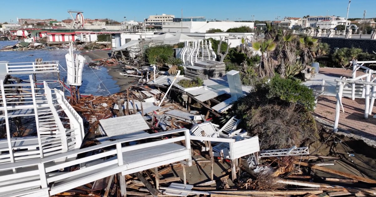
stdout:
{"type": "Polygon", "coordinates": [[[248,26],[253,28],[253,22],[207,21],[205,17],[182,18],[181,22],[163,22],[163,32],[177,33],[206,33],[212,29],[226,32],[230,28],[248,26]]]}

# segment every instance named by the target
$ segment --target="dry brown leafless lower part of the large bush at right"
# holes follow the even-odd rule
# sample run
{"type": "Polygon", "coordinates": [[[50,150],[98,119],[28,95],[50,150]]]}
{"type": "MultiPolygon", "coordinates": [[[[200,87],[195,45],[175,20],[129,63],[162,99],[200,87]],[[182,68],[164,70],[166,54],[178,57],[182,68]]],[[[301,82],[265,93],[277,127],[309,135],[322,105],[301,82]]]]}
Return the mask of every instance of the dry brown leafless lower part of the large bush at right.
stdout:
{"type": "Polygon", "coordinates": [[[261,149],[284,149],[318,140],[318,125],[311,113],[297,105],[265,105],[252,110],[247,122],[251,135],[258,135],[261,149]]]}

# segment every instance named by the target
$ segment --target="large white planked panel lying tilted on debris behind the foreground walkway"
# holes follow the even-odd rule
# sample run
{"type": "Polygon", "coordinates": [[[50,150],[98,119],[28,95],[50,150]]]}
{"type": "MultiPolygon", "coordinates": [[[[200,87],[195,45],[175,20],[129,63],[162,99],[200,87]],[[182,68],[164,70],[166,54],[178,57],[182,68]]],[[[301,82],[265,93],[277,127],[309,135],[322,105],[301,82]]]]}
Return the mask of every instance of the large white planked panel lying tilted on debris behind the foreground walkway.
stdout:
{"type": "Polygon", "coordinates": [[[108,137],[149,129],[141,114],[99,120],[99,123],[108,137]]]}

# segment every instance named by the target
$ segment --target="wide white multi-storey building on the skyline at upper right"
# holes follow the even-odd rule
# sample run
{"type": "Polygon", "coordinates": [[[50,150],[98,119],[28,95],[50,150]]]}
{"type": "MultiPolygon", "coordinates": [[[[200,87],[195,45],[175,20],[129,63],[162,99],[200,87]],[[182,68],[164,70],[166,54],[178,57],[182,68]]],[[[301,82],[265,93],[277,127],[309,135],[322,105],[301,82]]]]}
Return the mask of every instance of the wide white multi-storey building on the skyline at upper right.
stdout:
{"type": "Polygon", "coordinates": [[[351,21],[347,21],[342,17],[335,16],[317,16],[317,17],[308,17],[307,22],[304,27],[316,28],[320,26],[320,29],[334,29],[337,25],[346,25],[349,26],[351,21]]]}

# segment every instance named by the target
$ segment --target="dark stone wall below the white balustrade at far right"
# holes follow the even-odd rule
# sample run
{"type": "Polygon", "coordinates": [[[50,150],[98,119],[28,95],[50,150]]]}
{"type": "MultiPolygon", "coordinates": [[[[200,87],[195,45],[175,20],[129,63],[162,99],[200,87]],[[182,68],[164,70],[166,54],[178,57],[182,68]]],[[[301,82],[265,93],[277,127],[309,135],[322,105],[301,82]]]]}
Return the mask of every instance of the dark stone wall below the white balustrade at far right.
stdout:
{"type": "Polygon", "coordinates": [[[364,52],[372,53],[376,52],[376,40],[371,39],[344,39],[344,38],[319,38],[321,42],[325,42],[330,45],[330,48],[361,48],[364,52]]]}

